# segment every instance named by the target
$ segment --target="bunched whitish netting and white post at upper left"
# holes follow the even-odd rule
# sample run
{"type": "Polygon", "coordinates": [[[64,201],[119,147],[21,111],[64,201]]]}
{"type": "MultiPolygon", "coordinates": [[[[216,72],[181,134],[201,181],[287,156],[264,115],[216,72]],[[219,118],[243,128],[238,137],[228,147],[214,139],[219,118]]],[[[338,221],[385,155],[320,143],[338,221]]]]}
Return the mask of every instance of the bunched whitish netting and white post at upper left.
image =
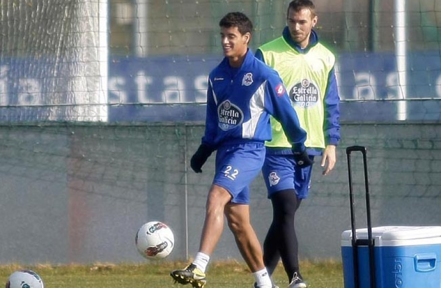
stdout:
{"type": "Polygon", "coordinates": [[[107,120],[106,2],[1,0],[1,120],[107,120]]]}

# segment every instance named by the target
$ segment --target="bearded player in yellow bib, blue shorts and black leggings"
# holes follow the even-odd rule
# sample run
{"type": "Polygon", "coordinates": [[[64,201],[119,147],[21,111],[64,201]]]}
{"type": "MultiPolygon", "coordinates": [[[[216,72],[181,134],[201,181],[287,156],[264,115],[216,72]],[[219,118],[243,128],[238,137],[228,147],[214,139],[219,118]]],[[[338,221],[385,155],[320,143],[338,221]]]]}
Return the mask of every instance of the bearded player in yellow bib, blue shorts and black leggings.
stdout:
{"type": "MultiPolygon", "coordinates": [[[[307,131],[305,146],[311,160],[321,156],[322,174],[336,163],[340,141],[340,97],[334,72],[335,56],[319,43],[314,31],[318,17],[310,0],[288,5],[282,36],[259,47],[255,56],[281,76],[300,126],[307,131]]],[[[266,142],[262,168],[273,207],[273,219],[264,241],[264,263],[270,274],[282,259],[289,288],[306,288],[299,271],[294,215],[308,196],[312,166],[299,168],[280,123],[271,118],[272,140],[266,142]]]]}

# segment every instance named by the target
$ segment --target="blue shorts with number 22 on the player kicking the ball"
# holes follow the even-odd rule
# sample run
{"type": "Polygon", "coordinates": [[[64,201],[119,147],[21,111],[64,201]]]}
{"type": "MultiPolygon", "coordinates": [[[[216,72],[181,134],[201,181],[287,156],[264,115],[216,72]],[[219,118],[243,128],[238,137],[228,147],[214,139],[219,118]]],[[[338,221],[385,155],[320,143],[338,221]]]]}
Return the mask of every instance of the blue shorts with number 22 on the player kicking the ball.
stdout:
{"type": "Polygon", "coordinates": [[[226,189],[232,203],[249,204],[249,184],[259,175],[264,160],[263,143],[221,146],[216,152],[213,184],[226,189]]]}

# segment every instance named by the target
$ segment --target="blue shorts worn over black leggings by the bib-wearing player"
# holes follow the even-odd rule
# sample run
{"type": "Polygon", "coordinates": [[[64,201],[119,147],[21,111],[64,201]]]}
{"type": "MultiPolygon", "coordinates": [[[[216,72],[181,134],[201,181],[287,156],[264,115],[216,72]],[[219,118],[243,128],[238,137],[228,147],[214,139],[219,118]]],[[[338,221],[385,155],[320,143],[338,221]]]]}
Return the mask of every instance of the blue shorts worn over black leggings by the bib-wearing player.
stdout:
{"type": "MultiPolygon", "coordinates": [[[[314,160],[314,156],[309,156],[314,160]]],[[[297,169],[292,155],[271,155],[265,157],[262,167],[265,184],[267,185],[268,198],[278,191],[294,189],[297,197],[308,197],[311,185],[312,165],[297,169]]]]}

